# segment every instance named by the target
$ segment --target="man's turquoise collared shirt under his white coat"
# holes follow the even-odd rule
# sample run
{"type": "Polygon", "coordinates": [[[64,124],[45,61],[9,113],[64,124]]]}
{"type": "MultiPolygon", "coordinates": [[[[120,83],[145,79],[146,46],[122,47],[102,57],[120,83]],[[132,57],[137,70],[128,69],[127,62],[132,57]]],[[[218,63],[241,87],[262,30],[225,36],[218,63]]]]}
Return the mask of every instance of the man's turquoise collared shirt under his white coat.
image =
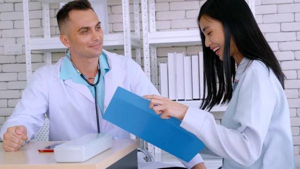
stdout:
{"type": "MultiPolygon", "coordinates": [[[[69,57],[69,52],[67,53],[69,57]]],[[[104,113],[104,75],[109,71],[109,66],[107,62],[107,56],[102,52],[102,54],[99,56],[99,67],[100,67],[100,81],[97,84],[97,102],[98,106],[100,107],[101,114],[104,113]]],[[[61,63],[60,68],[60,79],[67,80],[72,79],[74,83],[79,83],[82,85],[86,85],[91,92],[92,96],[95,98],[95,91],[94,87],[86,83],[80,76],[80,74],[76,71],[76,69],[73,67],[71,62],[64,56],[64,59],[61,63]]],[[[98,80],[98,73],[96,74],[96,77],[94,79],[94,83],[96,83],[98,80]]]]}

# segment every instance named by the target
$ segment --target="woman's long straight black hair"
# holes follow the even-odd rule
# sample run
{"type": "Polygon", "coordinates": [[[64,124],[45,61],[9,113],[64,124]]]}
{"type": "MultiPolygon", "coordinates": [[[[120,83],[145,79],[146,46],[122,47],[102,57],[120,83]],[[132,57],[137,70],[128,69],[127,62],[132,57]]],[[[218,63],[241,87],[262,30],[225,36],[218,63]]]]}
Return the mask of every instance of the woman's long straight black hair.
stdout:
{"type": "Polygon", "coordinates": [[[228,103],[232,97],[235,61],[229,51],[231,38],[242,56],[259,60],[271,69],[284,89],[285,76],[244,0],[207,0],[200,9],[198,25],[201,17],[220,22],[225,35],[223,61],[221,61],[210,48],[205,47],[205,36],[199,26],[204,74],[201,109],[211,110],[214,105],[228,103]]]}

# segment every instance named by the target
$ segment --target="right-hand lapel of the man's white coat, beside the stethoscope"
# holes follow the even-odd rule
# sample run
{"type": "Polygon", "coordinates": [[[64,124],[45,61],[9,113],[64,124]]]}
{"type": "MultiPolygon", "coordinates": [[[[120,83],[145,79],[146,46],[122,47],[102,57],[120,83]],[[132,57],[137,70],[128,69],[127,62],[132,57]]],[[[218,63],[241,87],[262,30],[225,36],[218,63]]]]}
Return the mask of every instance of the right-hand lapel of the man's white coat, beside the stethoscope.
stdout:
{"type": "MultiPolygon", "coordinates": [[[[107,56],[109,71],[104,75],[104,112],[118,86],[122,83],[126,76],[126,70],[122,66],[122,59],[116,54],[112,54],[103,50],[107,56]]],[[[102,131],[107,121],[103,120],[102,131]]]]}

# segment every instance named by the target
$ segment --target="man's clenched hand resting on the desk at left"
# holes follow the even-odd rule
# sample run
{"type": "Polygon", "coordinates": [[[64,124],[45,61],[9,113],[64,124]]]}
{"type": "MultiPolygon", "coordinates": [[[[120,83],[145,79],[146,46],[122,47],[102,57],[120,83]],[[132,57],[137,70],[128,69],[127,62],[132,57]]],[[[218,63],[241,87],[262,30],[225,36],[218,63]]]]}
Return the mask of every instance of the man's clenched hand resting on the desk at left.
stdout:
{"type": "Polygon", "coordinates": [[[6,151],[16,151],[26,140],[28,140],[28,137],[25,126],[8,127],[6,133],[3,134],[2,147],[6,151]]]}

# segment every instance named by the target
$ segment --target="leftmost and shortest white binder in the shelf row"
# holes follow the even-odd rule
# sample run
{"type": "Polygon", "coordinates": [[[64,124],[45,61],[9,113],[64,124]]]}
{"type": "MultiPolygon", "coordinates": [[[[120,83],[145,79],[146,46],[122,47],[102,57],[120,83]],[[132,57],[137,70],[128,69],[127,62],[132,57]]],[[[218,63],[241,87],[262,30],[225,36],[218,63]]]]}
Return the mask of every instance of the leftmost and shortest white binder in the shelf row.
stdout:
{"type": "Polygon", "coordinates": [[[159,88],[162,97],[168,97],[167,63],[159,63],[159,88]]]}

